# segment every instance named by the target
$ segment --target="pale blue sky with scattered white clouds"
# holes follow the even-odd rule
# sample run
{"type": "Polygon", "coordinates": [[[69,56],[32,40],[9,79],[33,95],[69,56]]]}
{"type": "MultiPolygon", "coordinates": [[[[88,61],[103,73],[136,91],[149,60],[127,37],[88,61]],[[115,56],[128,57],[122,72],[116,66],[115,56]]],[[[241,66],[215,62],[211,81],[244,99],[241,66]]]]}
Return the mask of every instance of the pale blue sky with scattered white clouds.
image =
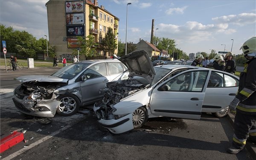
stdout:
{"type": "MultiPolygon", "coordinates": [[[[47,1],[0,0],[0,23],[45,38],[47,1]]],[[[126,17],[127,42],[150,42],[154,19],[154,36],[174,39],[176,48],[187,55],[231,48],[233,54],[241,54],[241,45],[256,36],[256,0],[98,0],[98,5],[119,18],[123,43],[126,17]]]]}

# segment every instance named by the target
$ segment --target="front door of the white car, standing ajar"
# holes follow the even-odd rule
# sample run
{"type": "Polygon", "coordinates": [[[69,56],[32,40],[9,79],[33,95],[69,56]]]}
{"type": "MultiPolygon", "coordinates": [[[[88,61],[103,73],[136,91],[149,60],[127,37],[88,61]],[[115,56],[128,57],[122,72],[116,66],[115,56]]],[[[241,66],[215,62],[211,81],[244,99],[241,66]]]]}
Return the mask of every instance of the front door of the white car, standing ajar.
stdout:
{"type": "Polygon", "coordinates": [[[200,119],[208,70],[188,70],[164,81],[151,94],[155,116],[200,119]]]}

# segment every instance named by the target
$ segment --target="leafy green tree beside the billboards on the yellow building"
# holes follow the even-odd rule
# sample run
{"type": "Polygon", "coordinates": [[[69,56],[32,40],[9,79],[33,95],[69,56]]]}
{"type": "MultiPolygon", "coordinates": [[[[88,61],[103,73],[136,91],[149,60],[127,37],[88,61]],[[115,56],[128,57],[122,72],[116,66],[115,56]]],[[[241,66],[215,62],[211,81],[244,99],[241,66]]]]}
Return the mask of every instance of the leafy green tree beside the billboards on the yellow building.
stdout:
{"type": "MultiPolygon", "coordinates": [[[[80,54],[85,55],[85,59],[86,57],[96,56],[96,46],[98,46],[98,44],[94,41],[93,35],[88,35],[86,38],[77,37],[77,39],[79,43],[79,48],[81,49],[80,54]]],[[[73,49],[73,54],[76,53],[77,49],[73,49]]]]}

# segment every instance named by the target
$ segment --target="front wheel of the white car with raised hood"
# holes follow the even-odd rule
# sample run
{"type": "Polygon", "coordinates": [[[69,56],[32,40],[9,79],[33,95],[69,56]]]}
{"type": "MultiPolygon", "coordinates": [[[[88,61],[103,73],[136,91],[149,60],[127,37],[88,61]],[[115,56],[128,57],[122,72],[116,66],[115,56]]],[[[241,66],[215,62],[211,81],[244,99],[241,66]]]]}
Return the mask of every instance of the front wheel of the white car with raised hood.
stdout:
{"type": "Polygon", "coordinates": [[[132,114],[134,129],[141,128],[148,121],[148,111],[144,107],[137,108],[132,114]]]}

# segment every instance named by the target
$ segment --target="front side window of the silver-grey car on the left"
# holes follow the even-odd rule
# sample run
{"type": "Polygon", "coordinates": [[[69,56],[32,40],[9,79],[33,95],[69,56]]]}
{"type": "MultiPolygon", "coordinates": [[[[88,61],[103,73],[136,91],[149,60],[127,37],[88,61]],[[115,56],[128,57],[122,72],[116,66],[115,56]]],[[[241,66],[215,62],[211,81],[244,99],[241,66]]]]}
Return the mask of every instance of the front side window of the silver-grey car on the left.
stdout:
{"type": "Polygon", "coordinates": [[[84,71],[84,75],[87,79],[93,79],[96,77],[106,76],[107,68],[105,63],[95,64],[84,71]]]}

